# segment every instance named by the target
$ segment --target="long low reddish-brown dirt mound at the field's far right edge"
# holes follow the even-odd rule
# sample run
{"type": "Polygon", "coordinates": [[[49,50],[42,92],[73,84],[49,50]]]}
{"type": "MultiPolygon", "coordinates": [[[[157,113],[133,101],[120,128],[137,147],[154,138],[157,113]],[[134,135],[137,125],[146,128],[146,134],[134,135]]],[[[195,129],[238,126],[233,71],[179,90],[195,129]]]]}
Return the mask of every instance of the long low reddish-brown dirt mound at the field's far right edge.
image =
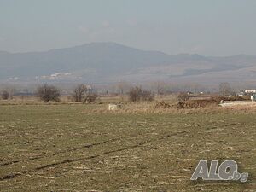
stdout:
{"type": "Polygon", "coordinates": [[[189,100],[186,102],[177,102],[177,108],[206,108],[209,106],[218,106],[218,100],[189,100]]]}

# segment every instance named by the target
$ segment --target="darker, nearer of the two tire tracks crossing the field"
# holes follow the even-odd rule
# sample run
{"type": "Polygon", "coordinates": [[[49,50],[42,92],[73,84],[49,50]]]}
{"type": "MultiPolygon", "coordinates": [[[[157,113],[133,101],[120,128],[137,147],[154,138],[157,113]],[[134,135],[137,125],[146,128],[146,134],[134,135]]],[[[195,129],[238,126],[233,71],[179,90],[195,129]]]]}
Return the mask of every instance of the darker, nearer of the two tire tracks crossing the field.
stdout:
{"type": "Polygon", "coordinates": [[[133,149],[133,148],[140,148],[144,144],[160,141],[160,140],[166,139],[168,137],[183,135],[185,133],[189,133],[189,131],[180,131],[180,132],[176,132],[176,133],[173,133],[173,134],[166,134],[162,137],[158,137],[158,138],[155,138],[155,139],[150,139],[148,141],[143,141],[143,142],[137,143],[135,145],[128,146],[126,148],[119,148],[119,149],[115,149],[115,150],[106,151],[106,152],[103,152],[102,154],[95,154],[95,155],[91,155],[91,156],[83,157],[83,158],[74,158],[74,159],[69,159],[69,160],[61,160],[59,162],[50,163],[50,164],[47,164],[47,165],[44,165],[44,166],[38,166],[38,167],[36,167],[36,168],[34,168],[30,171],[10,173],[8,175],[0,177],[0,181],[4,181],[4,180],[7,180],[7,179],[13,179],[13,178],[21,176],[21,175],[27,175],[29,173],[37,172],[37,171],[43,170],[45,168],[53,167],[53,166],[60,166],[60,165],[67,164],[67,163],[73,163],[73,162],[76,162],[76,161],[79,161],[79,160],[91,160],[91,159],[95,159],[97,157],[101,157],[101,156],[104,156],[104,155],[107,155],[107,154],[113,154],[113,153],[129,150],[129,149],[133,149]]]}

